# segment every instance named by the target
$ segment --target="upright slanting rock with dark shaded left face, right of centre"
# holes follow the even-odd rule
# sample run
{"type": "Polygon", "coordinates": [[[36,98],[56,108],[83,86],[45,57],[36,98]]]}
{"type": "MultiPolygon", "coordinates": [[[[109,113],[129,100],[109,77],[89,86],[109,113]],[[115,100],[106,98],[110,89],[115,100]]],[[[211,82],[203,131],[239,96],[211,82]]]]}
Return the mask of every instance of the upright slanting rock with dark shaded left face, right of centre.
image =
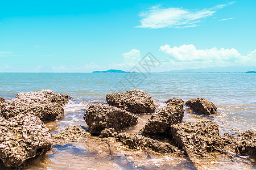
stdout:
{"type": "Polygon", "coordinates": [[[183,116],[183,101],[174,99],[166,107],[152,114],[141,133],[149,135],[168,133],[170,126],[181,122],[183,116]]]}

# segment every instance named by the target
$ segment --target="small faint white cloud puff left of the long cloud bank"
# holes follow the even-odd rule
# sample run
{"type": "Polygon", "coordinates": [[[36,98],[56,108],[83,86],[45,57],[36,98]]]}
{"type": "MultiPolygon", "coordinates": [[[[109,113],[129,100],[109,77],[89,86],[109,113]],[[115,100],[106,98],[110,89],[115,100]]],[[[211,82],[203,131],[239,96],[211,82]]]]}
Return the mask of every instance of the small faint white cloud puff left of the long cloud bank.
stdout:
{"type": "Polygon", "coordinates": [[[137,65],[141,60],[141,53],[137,49],[132,49],[130,52],[123,53],[122,55],[125,59],[125,64],[129,66],[137,65]]]}

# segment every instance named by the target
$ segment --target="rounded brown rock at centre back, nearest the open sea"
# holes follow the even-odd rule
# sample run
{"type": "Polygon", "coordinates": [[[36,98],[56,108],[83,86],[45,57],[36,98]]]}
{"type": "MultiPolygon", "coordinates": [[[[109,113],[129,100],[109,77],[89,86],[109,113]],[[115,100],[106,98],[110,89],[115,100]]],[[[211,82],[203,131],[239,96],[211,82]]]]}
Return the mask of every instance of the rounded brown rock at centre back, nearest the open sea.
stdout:
{"type": "Polygon", "coordinates": [[[106,94],[109,105],[125,109],[131,113],[153,113],[155,104],[152,97],[142,90],[131,90],[123,93],[106,94]]]}

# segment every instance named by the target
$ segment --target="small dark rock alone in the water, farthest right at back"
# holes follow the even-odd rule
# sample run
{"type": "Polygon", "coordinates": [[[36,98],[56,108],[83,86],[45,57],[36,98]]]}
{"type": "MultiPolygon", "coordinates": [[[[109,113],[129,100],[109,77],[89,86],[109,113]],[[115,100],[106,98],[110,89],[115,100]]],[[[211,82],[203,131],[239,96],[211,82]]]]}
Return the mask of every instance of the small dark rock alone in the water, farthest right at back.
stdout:
{"type": "Polygon", "coordinates": [[[199,114],[217,114],[216,106],[204,98],[189,99],[185,104],[199,114]]]}

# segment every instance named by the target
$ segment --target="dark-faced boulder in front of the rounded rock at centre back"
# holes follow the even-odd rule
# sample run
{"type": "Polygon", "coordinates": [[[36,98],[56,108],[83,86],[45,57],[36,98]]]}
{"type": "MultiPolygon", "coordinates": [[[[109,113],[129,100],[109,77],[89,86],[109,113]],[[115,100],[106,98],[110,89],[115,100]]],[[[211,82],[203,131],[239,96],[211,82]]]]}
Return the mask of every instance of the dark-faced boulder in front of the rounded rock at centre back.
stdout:
{"type": "Polygon", "coordinates": [[[138,117],[108,104],[92,104],[84,114],[84,120],[92,134],[100,134],[105,128],[120,130],[137,124],[138,117]]]}

